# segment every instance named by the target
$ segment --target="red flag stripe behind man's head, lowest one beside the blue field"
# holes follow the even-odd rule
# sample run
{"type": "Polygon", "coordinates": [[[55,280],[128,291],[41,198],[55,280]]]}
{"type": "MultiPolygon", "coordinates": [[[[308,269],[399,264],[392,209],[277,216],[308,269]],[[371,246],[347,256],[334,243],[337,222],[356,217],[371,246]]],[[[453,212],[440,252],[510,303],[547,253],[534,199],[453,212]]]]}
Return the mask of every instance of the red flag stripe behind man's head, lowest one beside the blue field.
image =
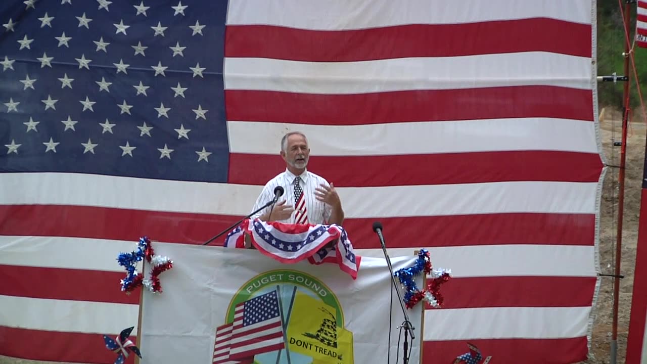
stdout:
{"type": "MultiPolygon", "coordinates": [[[[285,170],[285,161],[278,154],[230,154],[229,166],[229,183],[265,185],[278,171],[285,170]]],[[[312,156],[308,170],[325,176],[335,187],[501,181],[597,182],[602,171],[602,160],[593,153],[543,150],[405,156],[312,156]]]]}

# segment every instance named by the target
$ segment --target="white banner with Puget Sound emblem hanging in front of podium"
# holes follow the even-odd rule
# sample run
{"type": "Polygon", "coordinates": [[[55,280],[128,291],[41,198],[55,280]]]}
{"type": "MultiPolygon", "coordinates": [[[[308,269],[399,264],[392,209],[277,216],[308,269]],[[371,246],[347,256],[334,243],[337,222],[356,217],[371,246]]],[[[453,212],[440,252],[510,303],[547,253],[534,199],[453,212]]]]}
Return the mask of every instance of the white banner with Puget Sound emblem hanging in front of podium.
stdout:
{"type": "MultiPolygon", "coordinates": [[[[140,363],[402,362],[404,316],[384,258],[363,257],[353,280],[335,264],[281,264],[254,250],[154,248],[173,269],[160,275],[162,293],[144,292],[140,363]]],[[[394,271],[416,258],[391,258],[394,271]]],[[[420,362],[423,306],[408,310],[410,363],[420,362]]]]}

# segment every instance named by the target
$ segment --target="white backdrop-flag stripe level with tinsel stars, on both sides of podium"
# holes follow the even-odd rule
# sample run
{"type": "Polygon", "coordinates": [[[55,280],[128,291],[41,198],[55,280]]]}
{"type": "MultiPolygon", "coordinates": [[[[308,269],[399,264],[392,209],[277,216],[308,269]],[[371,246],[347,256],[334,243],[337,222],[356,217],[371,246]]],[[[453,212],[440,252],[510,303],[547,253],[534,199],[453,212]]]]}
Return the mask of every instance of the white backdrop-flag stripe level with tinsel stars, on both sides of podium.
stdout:
{"type": "MultiPolygon", "coordinates": [[[[388,229],[386,225],[384,235],[387,247],[392,244],[389,241],[388,229]]],[[[16,239],[16,236],[0,236],[0,264],[124,271],[112,258],[114,244],[109,240],[30,237],[23,240],[23,244],[27,247],[23,255],[6,257],[3,245],[16,239]],[[88,259],[87,250],[74,249],[76,244],[92,246],[94,256],[105,258],[88,259]],[[29,249],[30,247],[38,247],[38,249],[29,249]]],[[[192,246],[188,245],[186,249],[217,248],[192,246]]],[[[410,257],[416,249],[419,248],[391,248],[388,251],[391,258],[410,257]]],[[[592,246],[520,244],[427,249],[430,251],[433,266],[452,269],[452,275],[457,278],[499,275],[595,277],[592,259],[595,251],[592,246]]],[[[355,254],[384,258],[382,249],[355,249],[355,254]]]]}

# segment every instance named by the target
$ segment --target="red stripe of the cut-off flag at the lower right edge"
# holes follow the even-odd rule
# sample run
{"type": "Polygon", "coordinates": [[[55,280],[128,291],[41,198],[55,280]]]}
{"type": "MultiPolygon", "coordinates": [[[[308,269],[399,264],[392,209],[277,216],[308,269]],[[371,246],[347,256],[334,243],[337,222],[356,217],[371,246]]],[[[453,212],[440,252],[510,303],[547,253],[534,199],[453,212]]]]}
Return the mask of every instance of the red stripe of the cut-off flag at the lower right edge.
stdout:
{"type": "MultiPolygon", "coordinates": [[[[647,171],[646,171],[647,172],[647,171]]],[[[633,272],[633,295],[631,301],[631,316],[629,335],[627,337],[626,364],[639,364],[646,334],[645,318],[647,316],[647,189],[641,192],[641,215],[638,223],[638,247],[636,251],[636,266],[633,272]]]]}

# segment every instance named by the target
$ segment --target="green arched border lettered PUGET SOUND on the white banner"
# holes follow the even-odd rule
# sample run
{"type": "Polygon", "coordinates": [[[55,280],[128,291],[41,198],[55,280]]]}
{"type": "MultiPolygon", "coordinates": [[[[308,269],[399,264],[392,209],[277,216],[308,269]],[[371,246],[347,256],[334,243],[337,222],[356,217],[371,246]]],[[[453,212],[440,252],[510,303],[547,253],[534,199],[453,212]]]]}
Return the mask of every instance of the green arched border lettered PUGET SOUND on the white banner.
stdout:
{"type": "Polygon", "coordinates": [[[239,290],[236,291],[236,293],[234,294],[234,297],[232,298],[232,301],[229,302],[229,306],[227,308],[227,313],[226,313],[226,316],[225,316],[225,323],[234,322],[234,308],[236,307],[237,304],[247,301],[250,297],[252,297],[254,295],[254,293],[256,291],[259,291],[259,290],[261,290],[261,289],[263,289],[263,288],[265,288],[267,286],[270,286],[272,284],[281,284],[281,283],[283,283],[283,284],[285,284],[285,283],[294,284],[294,286],[299,286],[299,287],[305,288],[306,290],[309,290],[311,292],[316,293],[316,296],[319,297],[323,301],[323,303],[334,307],[334,309],[336,310],[336,313],[337,313],[337,327],[344,328],[344,322],[345,321],[344,321],[344,312],[342,310],[342,305],[339,303],[339,300],[337,299],[337,296],[334,294],[333,290],[331,290],[327,286],[327,284],[323,283],[321,280],[317,279],[316,277],[313,277],[312,275],[309,275],[308,273],[304,273],[302,271],[296,271],[296,270],[293,270],[293,269],[275,269],[273,271],[267,271],[265,273],[262,273],[262,274],[259,274],[259,275],[255,276],[255,277],[252,277],[252,279],[245,282],[243,284],[243,286],[241,286],[241,288],[239,288],[239,290]],[[252,284],[252,282],[254,282],[256,280],[259,280],[259,279],[263,279],[263,277],[266,277],[268,275],[276,275],[276,274],[281,274],[281,273],[283,273],[283,275],[281,276],[281,280],[274,280],[273,282],[269,282],[268,284],[265,284],[264,286],[260,286],[259,288],[256,288],[256,289],[252,290],[250,293],[247,293],[247,291],[245,291],[245,288],[247,288],[247,286],[249,284],[252,284]],[[295,274],[295,275],[301,275],[304,278],[311,279],[314,282],[318,283],[323,289],[325,289],[326,296],[321,297],[321,295],[319,295],[318,292],[313,291],[308,286],[300,284],[299,282],[296,282],[294,280],[288,280],[287,275],[289,275],[290,273],[295,274]]]}

